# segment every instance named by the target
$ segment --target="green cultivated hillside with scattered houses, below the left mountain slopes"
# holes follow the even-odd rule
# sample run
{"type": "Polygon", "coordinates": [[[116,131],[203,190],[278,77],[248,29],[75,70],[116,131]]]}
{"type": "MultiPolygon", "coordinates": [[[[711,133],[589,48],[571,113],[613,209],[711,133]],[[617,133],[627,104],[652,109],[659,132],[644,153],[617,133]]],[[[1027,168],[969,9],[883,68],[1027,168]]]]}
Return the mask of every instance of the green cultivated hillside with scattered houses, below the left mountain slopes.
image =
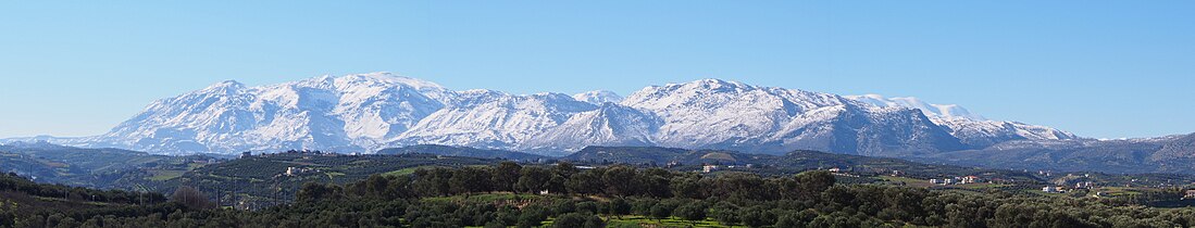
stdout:
{"type": "Polygon", "coordinates": [[[431,154],[344,155],[292,150],[213,164],[166,180],[130,184],[157,192],[192,186],[219,205],[258,209],[292,202],[304,183],[347,184],[373,174],[410,173],[418,167],[465,167],[500,161],[431,154]]]}

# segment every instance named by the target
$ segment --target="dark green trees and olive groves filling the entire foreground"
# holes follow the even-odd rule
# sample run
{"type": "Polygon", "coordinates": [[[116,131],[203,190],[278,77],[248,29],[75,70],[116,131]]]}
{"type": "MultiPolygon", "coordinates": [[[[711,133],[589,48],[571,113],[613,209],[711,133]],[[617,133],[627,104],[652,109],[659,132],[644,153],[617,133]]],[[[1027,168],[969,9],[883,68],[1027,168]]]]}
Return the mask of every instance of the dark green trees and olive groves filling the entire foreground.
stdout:
{"type": "MultiPolygon", "coordinates": [[[[184,196],[184,195],[178,195],[184,196]]],[[[568,164],[428,168],[348,185],[305,184],[294,204],[259,211],[168,203],[18,216],[17,227],[553,227],[651,220],[747,227],[1191,227],[1195,210],[835,184],[826,172],[717,177],[568,164]],[[540,195],[543,191],[547,195],[540,195]],[[557,191],[553,191],[557,190],[557,191]],[[485,192],[520,192],[496,193],[485,192]]],[[[183,201],[183,199],[178,199],[183,201]]],[[[2,214],[2,212],[0,212],[2,214]]],[[[0,216],[2,218],[2,216],[0,216]]],[[[2,227],[2,226],[0,226],[2,227]]]]}

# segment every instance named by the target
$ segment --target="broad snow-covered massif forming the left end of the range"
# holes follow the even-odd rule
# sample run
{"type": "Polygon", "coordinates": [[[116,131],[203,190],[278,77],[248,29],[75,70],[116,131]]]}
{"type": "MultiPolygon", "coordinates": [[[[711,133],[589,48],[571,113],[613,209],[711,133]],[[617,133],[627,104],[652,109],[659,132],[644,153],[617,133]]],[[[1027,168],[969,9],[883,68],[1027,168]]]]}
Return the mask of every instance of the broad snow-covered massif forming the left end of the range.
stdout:
{"type": "Polygon", "coordinates": [[[451,93],[388,73],[258,87],[223,81],[154,101],[96,141],[155,153],[361,150],[406,131],[451,93]]]}

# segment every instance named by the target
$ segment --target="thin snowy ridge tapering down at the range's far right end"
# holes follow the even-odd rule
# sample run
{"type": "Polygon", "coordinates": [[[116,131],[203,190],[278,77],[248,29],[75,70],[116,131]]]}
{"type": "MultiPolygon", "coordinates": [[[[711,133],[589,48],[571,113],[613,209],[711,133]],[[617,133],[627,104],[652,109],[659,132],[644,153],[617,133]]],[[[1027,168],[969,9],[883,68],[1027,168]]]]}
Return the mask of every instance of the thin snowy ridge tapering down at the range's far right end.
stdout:
{"type": "Polygon", "coordinates": [[[918,98],[884,98],[878,94],[846,95],[878,107],[911,107],[921,110],[933,123],[972,147],[988,147],[1011,140],[1074,140],[1074,134],[1019,122],[989,121],[958,105],[940,105],[918,98]]]}

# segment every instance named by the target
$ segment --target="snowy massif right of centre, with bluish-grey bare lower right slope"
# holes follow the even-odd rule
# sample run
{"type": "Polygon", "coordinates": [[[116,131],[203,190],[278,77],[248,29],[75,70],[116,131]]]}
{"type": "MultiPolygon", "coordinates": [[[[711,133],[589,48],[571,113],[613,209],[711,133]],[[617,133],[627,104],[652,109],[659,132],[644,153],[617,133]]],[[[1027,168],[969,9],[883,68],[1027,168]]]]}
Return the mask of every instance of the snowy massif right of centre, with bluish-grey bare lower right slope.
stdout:
{"type": "Polygon", "coordinates": [[[664,147],[868,155],[960,149],[957,138],[923,115],[875,111],[828,93],[710,79],[648,87],[621,104],[660,116],[655,138],[664,147]]]}

